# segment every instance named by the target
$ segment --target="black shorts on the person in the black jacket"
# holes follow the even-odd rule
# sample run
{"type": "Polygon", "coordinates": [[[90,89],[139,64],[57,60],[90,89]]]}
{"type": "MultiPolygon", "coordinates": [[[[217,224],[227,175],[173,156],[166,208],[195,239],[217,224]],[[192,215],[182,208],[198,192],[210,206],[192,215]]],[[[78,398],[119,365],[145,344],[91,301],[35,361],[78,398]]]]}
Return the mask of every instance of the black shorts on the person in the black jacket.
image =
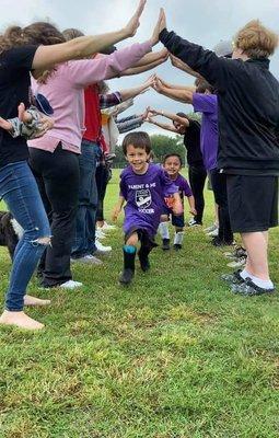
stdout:
{"type": "Polygon", "coordinates": [[[226,175],[233,232],[267,231],[278,226],[278,176],[226,175]]]}

